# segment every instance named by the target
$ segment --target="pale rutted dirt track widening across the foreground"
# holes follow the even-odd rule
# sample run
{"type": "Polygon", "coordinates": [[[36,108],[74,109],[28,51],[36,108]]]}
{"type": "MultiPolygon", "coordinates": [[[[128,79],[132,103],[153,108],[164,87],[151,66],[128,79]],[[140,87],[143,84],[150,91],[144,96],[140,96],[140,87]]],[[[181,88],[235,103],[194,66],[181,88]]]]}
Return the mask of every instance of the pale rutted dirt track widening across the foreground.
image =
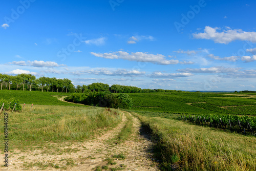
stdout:
{"type": "Polygon", "coordinates": [[[51,144],[53,149],[36,148],[27,152],[14,150],[10,153],[8,168],[2,167],[1,170],[96,170],[96,167],[102,166],[108,167],[107,170],[118,167],[123,170],[159,170],[152,154],[154,144],[146,131],[141,129],[140,121],[132,117],[134,132],[131,138],[123,143],[115,144],[110,140],[116,137],[125,125],[127,119],[124,113],[117,127],[95,139],[72,144],[51,144]],[[120,154],[124,159],[114,157],[120,154]],[[113,160],[112,165],[105,161],[108,158],[113,160]]]}

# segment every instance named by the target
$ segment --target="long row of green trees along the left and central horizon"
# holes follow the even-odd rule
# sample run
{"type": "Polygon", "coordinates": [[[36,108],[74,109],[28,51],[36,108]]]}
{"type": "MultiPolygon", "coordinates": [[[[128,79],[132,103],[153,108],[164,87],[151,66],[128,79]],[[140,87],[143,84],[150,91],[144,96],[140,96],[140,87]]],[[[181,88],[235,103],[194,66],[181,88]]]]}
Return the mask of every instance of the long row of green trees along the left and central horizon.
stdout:
{"type": "Polygon", "coordinates": [[[64,78],[57,79],[55,77],[39,77],[36,78],[31,74],[18,74],[15,76],[0,73],[1,90],[29,90],[29,91],[47,91],[47,92],[66,92],[66,93],[89,93],[89,92],[104,92],[111,93],[155,93],[155,92],[181,92],[176,90],[163,89],[141,89],[134,86],[121,86],[96,82],[87,85],[74,86],[72,81],[64,78]]]}

